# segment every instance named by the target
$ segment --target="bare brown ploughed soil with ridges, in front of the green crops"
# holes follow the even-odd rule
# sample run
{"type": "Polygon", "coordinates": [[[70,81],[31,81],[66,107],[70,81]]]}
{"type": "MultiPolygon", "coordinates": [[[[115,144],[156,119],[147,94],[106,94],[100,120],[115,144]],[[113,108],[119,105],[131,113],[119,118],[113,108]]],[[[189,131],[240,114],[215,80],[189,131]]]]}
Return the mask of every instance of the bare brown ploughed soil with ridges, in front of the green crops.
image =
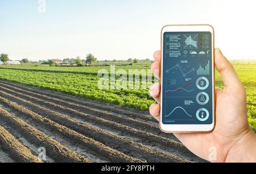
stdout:
{"type": "Polygon", "coordinates": [[[147,113],[0,81],[0,160],[42,162],[203,161],[147,113]]]}

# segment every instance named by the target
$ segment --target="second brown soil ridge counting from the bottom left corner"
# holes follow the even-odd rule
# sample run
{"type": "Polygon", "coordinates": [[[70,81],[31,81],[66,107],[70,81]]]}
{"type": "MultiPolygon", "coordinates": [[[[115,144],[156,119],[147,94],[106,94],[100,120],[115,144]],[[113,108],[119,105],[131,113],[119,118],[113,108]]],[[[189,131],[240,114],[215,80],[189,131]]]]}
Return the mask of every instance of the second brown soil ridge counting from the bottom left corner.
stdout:
{"type": "MultiPolygon", "coordinates": [[[[0,97],[0,100],[6,99],[0,97]]],[[[36,144],[38,147],[45,147],[47,155],[56,162],[89,162],[88,159],[69,150],[69,148],[64,147],[56,140],[44,135],[42,132],[23,122],[21,119],[16,118],[14,115],[2,108],[0,108],[0,115],[2,121],[5,121],[7,125],[18,131],[19,134],[23,135],[28,142],[36,144]]]]}

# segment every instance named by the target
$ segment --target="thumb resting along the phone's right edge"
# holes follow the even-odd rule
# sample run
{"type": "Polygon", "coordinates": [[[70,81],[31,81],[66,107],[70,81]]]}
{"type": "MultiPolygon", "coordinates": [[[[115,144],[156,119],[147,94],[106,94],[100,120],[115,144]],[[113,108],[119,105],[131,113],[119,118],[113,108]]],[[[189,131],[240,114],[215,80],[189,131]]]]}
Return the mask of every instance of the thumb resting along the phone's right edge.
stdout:
{"type": "Polygon", "coordinates": [[[215,49],[215,67],[222,77],[225,87],[240,88],[242,82],[239,80],[233,65],[226,59],[220,49],[215,49]]]}

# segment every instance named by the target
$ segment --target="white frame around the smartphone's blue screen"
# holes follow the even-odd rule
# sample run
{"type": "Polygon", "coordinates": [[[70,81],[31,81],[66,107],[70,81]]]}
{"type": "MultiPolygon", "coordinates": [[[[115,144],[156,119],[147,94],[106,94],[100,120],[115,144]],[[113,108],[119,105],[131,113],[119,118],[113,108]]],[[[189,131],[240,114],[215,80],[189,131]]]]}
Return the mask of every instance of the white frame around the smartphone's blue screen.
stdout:
{"type": "Polygon", "coordinates": [[[163,34],[164,32],[211,32],[212,33],[212,100],[213,100],[213,123],[210,125],[165,125],[162,122],[162,91],[163,85],[160,90],[160,130],[167,133],[175,132],[211,132],[214,130],[216,123],[216,101],[215,101],[215,66],[214,66],[214,28],[209,24],[184,24],[184,25],[168,25],[164,26],[161,31],[161,68],[160,68],[160,83],[163,79],[163,34]]]}

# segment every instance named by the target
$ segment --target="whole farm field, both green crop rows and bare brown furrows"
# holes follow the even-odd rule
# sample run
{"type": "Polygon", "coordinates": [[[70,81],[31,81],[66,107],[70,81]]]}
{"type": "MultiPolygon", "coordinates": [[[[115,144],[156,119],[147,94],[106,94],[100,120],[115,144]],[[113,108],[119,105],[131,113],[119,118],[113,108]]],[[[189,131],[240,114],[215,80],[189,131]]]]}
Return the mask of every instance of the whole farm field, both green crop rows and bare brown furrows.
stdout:
{"type": "MultiPolygon", "coordinates": [[[[234,65],[247,93],[256,131],[256,65],[234,65]]],[[[150,64],[116,69],[149,69],[150,64]]],[[[97,72],[109,66],[0,66],[0,161],[46,162],[203,161],[174,135],[160,132],[148,114],[147,89],[98,89],[97,72]],[[11,142],[11,143],[10,143],[11,142]]],[[[216,88],[222,88],[216,73],[216,88]]]]}

